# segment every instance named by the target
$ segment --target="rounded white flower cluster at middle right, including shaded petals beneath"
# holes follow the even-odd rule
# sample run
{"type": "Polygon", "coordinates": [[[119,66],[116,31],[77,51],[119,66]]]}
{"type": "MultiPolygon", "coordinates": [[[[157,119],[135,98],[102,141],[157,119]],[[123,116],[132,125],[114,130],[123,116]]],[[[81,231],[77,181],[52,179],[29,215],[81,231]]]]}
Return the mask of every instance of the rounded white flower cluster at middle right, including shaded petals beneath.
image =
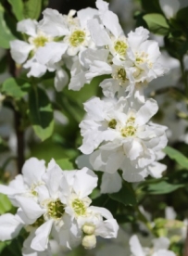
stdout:
{"type": "Polygon", "coordinates": [[[161,177],[166,166],[157,160],[164,156],[161,149],[167,145],[167,128],[149,122],[157,113],[155,100],[142,103],[125,97],[118,101],[94,97],[84,107],[87,117],[80,124],[83,136],[80,149],[83,154],[92,153],[90,163],[94,170],[106,173],[101,186],[103,193],[119,191],[120,179],[114,183],[112,178],[119,175],[119,169],[128,182],[142,181],[148,174],[161,177]]]}

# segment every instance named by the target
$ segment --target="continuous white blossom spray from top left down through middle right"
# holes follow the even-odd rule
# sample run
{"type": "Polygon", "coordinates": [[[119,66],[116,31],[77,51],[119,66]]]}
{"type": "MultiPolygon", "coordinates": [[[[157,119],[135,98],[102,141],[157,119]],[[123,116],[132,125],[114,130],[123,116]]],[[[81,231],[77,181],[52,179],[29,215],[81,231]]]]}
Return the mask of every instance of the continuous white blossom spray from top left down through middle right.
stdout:
{"type": "Polygon", "coordinates": [[[101,191],[112,193],[121,187],[118,170],[128,182],[140,182],[148,174],[158,178],[166,170],[157,160],[164,157],[167,127],[150,122],[157,102],[146,99],[143,89],[167,69],[146,29],[139,27],[126,36],[107,2],[97,0],[96,7],[70,10],[68,15],[47,8],[39,22],[19,21],[18,31],[27,42],[12,41],[11,54],[30,68],[28,76],[56,70],[57,91],[68,83],[63,65],[70,70],[72,90],[80,90],[96,76],[109,76],[99,84],[107,98],[95,97],[84,104],[87,116],[80,124],[80,149],[91,154],[92,169],[105,173],[101,191]]]}

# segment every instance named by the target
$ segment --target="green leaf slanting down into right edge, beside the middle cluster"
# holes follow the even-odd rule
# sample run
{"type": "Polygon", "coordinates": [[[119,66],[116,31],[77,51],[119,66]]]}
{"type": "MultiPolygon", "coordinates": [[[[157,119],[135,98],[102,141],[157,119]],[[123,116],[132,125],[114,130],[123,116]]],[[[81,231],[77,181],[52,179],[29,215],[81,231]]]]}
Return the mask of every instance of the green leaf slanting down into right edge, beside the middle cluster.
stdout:
{"type": "Polygon", "coordinates": [[[175,160],[179,163],[184,169],[188,170],[188,159],[182,155],[182,153],[172,147],[165,147],[163,150],[171,160],[175,160]]]}

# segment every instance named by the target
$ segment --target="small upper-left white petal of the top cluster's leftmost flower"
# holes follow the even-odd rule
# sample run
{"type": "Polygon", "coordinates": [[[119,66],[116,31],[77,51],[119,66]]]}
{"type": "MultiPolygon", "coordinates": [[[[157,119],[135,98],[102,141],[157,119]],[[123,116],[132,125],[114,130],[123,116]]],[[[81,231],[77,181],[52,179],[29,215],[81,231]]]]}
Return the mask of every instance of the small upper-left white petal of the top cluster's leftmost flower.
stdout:
{"type": "Polygon", "coordinates": [[[34,19],[23,19],[17,24],[18,32],[24,32],[28,35],[35,36],[38,22],[34,19]]]}

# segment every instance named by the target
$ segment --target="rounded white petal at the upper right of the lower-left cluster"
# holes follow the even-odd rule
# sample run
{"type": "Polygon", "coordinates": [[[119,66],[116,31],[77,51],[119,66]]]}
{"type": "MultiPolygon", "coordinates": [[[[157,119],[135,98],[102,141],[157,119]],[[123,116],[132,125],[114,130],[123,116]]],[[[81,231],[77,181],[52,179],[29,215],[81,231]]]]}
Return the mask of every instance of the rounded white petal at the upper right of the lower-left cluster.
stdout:
{"type": "Polygon", "coordinates": [[[81,198],[85,198],[92,193],[97,186],[98,177],[93,171],[83,168],[76,172],[74,180],[74,190],[81,198]]]}

